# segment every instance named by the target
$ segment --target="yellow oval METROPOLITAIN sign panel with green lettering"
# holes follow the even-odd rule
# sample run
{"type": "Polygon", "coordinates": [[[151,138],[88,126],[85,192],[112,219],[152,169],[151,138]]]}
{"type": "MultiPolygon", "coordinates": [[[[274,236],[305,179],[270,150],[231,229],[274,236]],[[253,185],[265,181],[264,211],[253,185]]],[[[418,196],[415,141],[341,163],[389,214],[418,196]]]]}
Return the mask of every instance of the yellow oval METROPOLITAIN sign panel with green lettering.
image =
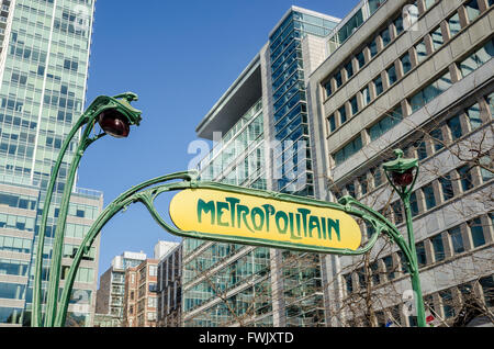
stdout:
{"type": "Polygon", "coordinates": [[[340,210],[223,190],[183,190],[169,212],[181,230],[239,244],[355,251],[362,239],[357,222],[340,210]]]}

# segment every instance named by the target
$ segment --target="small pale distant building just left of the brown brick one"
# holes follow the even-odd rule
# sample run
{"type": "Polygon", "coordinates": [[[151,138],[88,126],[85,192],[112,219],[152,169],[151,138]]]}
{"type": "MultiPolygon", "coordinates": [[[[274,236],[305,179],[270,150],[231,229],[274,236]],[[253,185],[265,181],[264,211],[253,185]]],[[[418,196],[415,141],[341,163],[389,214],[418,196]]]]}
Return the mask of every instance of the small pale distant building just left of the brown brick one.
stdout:
{"type": "Polygon", "coordinates": [[[143,252],[125,251],[112,260],[112,266],[100,277],[97,293],[96,314],[108,323],[112,318],[112,327],[119,327],[124,317],[125,271],[139,266],[147,256],[143,252]]]}

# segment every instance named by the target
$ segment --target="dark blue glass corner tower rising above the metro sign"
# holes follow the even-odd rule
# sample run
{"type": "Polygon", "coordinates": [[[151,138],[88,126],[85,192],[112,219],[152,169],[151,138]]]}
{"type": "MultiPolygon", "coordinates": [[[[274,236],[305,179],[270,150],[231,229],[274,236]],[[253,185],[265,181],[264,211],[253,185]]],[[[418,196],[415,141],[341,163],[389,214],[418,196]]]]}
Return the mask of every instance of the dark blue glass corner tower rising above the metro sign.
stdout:
{"type": "Polygon", "coordinates": [[[301,40],[306,34],[327,36],[337,24],[335,20],[292,10],[269,37],[274,138],[281,143],[274,161],[280,177],[276,191],[314,195],[301,40]]]}

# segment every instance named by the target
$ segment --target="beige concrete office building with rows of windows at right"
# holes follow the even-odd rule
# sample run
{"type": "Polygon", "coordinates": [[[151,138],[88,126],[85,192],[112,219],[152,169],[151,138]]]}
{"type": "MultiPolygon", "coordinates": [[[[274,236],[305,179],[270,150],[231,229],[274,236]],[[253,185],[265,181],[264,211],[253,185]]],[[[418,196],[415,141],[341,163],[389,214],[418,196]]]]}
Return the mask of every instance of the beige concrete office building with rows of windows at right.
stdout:
{"type": "MultiPolygon", "coordinates": [[[[412,214],[426,309],[451,325],[472,299],[493,306],[493,1],[379,1],[370,16],[364,4],[326,38],[308,79],[321,195],[352,195],[406,234],[381,165],[395,148],[418,158],[412,214]]],[[[411,283],[395,245],[323,267],[328,325],[416,323],[403,312],[411,283]]]]}

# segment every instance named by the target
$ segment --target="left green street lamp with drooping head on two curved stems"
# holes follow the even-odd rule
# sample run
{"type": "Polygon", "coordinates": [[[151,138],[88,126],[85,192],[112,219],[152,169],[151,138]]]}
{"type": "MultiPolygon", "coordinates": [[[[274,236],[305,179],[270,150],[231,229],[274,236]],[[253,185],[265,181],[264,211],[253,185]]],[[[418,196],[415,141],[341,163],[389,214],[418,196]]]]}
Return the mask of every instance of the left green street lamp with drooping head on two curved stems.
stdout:
{"type": "Polygon", "coordinates": [[[53,193],[55,190],[55,182],[64,159],[64,155],[70,146],[72,138],[80,133],[80,128],[86,126],[80,137],[78,147],[74,154],[74,159],[70,164],[67,181],[65,183],[64,193],[61,196],[60,210],[55,230],[55,238],[53,245],[53,255],[49,267],[49,279],[47,289],[47,301],[45,311],[44,326],[53,326],[56,305],[58,301],[59,277],[61,269],[61,255],[64,248],[65,224],[67,221],[68,206],[70,202],[71,190],[74,187],[76,171],[79,167],[80,159],[85,150],[99,138],[111,135],[116,138],[127,137],[132,125],[139,125],[142,112],[134,109],[131,102],[137,101],[138,97],[135,93],[126,92],[115,97],[100,95],[79,117],[74,127],[70,130],[65,139],[57,161],[52,171],[52,177],[46,190],[46,199],[44,201],[42,222],[38,230],[38,241],[36,248],[36,264],[34,273],[34,289],[33,289],[33,309],[31,325],[33,327],[42,326],[42,272],[43,272],[43,249],[46,232],[46,223],[48,219],[49,205],[52,203],[53,193]],[[99,123],[102,132],[94,134],[96,123],[99,123]]]}

